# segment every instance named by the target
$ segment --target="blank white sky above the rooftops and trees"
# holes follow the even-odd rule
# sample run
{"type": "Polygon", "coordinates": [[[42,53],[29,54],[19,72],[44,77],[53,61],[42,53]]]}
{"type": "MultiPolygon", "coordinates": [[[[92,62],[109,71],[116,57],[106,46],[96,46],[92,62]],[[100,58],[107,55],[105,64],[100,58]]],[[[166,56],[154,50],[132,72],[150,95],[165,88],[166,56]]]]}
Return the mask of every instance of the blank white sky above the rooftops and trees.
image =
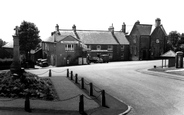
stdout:
{"type": "Polygon", "coordinates": [[[13,41],[15,26],[34,23],[42,40],[48,38],[58,24],[60,29],[108,30],[113,24],[127,32],[134,23],[155,25],[160,18],[166,32],[184,33],[183,0],[0,0],[0,38],[13,41]]]}

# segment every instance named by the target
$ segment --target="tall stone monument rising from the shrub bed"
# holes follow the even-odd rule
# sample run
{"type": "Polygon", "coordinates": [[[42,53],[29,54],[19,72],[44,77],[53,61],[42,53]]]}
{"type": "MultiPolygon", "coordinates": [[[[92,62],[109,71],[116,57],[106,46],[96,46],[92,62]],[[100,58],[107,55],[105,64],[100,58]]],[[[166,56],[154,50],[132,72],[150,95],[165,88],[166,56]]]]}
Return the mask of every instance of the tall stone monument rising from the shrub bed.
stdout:
{"type": "Polygon", "coordinates": [[[18,73],[21,70],[20,64],[20,52],[19,52],[19,27],[15,27],[15,34],[13,35],[13,62],[10,66],[10,70],[12,73],[18,73]]]}

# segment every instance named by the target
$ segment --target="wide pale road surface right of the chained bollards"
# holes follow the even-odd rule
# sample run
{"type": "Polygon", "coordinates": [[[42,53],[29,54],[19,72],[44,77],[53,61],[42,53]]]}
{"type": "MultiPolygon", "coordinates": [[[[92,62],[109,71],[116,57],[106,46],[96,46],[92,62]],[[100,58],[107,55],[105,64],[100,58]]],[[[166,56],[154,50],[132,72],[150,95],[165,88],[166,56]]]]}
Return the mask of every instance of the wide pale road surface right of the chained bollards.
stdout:
{"type": "Polygon", "coordinates": [[[140,73],[161,61],[114,62],[70,67],[133,107],[130,115],[184,115],[184,81],[140,73]]]}

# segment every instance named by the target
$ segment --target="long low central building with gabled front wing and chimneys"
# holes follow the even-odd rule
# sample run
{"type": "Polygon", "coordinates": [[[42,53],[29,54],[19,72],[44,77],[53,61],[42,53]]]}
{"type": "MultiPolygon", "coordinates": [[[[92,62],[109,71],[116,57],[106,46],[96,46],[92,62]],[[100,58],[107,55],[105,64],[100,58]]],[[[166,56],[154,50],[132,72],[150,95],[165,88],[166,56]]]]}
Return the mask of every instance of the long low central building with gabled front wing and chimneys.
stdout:
{"type": "Polygon", "coordinates": [[[59,29],[42,42],[43,58],[51,65],[76,64],[80,57],[108,55],[110,61],[129,60],[129,42],[122,31],[59,29]]]}

